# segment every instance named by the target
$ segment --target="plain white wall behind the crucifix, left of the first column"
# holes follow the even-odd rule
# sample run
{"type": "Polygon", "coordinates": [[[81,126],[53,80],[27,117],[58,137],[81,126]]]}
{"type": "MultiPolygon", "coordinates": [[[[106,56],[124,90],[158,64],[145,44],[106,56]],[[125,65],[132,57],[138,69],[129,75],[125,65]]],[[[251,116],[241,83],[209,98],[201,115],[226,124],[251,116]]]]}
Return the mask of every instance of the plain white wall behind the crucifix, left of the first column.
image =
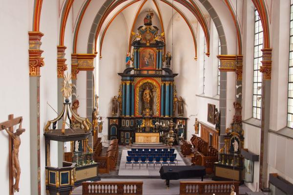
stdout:
{"type": "MultiPolygon", "coordinates": [[[[20,195],[30,192],[30,136],[29,136],[29,69],[28,69],[28,31],[32,29],[29,20],[33,3],[31,0],[1,0],[0,26],[0,122],[8,120],[8,114],[22,116],[19,160],[21,163],[20,195]]],[[[18,127],[15,127],[16,130],[18,127]]],[[[9,194],[8,174],[8,135],[0,131],[1,156],[0,184],[1,194],[9,194]]]]}

